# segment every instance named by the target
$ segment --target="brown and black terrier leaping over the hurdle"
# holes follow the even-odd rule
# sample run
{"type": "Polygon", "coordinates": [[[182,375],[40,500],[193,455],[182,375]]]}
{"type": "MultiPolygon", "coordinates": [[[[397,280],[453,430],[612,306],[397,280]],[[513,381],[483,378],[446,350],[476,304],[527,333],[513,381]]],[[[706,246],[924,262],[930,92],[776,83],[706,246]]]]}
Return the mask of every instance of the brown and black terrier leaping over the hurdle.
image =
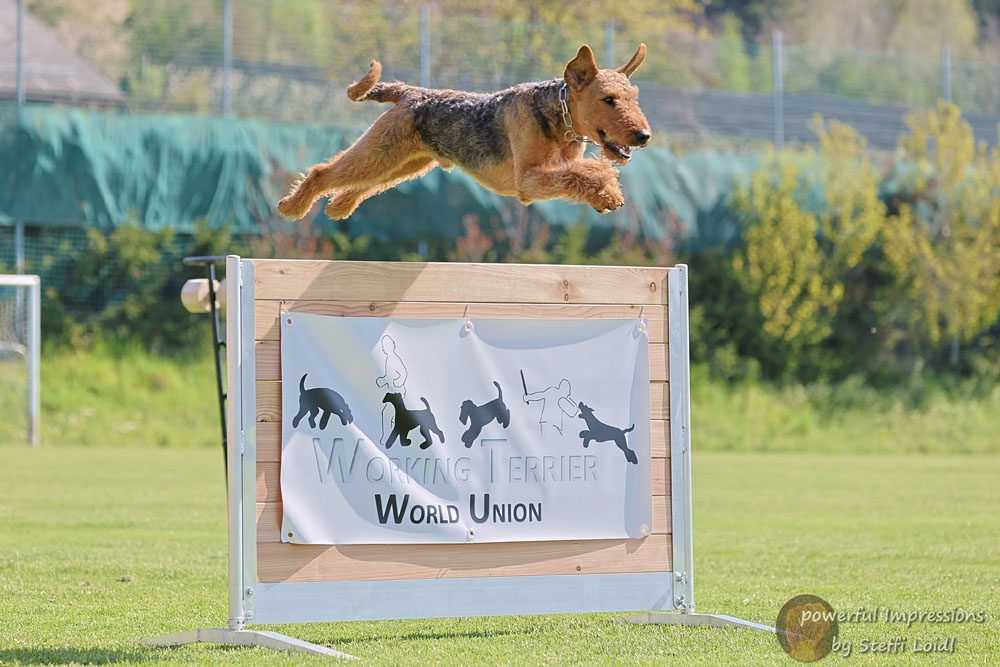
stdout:
{"type": "Polygon", "coordinates": [[[372,195],[456,164],[489,190],[524,204],[568,199],[613,211],[625,200],[611,163],[627,163],[630,147],[645,146],[652,136],[639,90],[629,81],[645,57],[640,44],[627,64],[598,69],[584,45],[562,79],[492,94],[380,83],[382,66],[373,60],[347,95],[395,106],[350,148],[311,167],[278,212],[298,219],[332,194],[326,214],[346,218],[372,195]],[[607,159],[584,159],[587,142],[607,159]]]}

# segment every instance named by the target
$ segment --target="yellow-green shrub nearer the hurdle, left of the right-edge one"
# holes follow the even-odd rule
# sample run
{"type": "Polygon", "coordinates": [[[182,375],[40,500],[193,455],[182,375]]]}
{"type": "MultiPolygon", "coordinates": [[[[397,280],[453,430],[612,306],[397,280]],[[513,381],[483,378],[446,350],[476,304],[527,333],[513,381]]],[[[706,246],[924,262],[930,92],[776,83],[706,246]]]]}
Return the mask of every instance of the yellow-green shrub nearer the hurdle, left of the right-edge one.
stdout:
{"type": "Polygon", "coordinates": [[[837,121],[817,117],[813,128],[818,151],[772,153],[734,197],[747,227],[733,268],[759,310],[759,356],[772,371],[824,363],[818,346],[833,333],[847,275],[885,222],[864,139],[837,121]]]}

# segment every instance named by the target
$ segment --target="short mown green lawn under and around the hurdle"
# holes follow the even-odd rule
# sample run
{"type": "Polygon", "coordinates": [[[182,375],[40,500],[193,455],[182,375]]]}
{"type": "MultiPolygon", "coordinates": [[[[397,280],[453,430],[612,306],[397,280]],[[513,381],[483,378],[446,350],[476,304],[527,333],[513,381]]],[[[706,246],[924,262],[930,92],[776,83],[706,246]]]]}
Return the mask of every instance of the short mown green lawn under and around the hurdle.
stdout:
{"type": "MultiPolygon", "coordinates": [[[[326,660],[136,645],[146,636],[225,624],[225,494],[215,449],[5,446],[0,455],[4,664],[326,660]]],[[[881,658],[995,664],[997,479],[995,457],[698,453],[698,608],[773,624],[786,600],[813,593],[838,610],[981,610],[989,615],[983,624],[845,624],[841,637],[955,636],[954,655],[881,658]]],[[[383,664],[794,664],[766,633],[626,626],[614,618],[273,629],[383,664]]]]}

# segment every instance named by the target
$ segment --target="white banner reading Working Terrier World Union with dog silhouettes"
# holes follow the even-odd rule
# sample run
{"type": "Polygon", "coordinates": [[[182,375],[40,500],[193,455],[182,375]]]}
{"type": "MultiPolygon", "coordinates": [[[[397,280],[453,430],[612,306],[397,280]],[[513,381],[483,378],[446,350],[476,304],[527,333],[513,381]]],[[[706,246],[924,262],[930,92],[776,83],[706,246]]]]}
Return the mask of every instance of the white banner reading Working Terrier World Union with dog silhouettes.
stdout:
{"type": "Polygon", "coordinates": [[[651,531],[643,320],[281,315],[281,539],[651,531]]]}

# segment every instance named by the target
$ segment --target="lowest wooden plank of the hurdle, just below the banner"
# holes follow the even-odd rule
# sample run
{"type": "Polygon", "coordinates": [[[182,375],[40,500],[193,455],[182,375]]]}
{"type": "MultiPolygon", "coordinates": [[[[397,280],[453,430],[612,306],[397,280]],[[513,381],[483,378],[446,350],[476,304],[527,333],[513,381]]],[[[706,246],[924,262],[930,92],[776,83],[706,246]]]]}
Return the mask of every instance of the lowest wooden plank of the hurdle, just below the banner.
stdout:
{"type": "Polygon", "coordinates": [[[510,577],[616,572],[669,572],[669,535],[638,540],[306,546],[266,543],[257,547],[257,580],[361,581],[510,577]]]}

